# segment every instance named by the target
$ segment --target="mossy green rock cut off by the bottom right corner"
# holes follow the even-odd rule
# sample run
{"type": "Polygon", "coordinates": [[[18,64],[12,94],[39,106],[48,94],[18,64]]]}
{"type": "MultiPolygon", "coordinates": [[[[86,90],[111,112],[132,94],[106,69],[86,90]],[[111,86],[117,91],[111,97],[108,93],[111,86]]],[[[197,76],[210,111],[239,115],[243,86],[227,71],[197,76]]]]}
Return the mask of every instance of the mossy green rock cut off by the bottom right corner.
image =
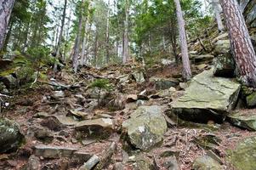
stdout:
{"type": "Polygon", "coordinates": [[[230,163],[237,170],[256,169],[256,136],[243,139],[236,145],[235,150],[228,151],[230,163]]]}

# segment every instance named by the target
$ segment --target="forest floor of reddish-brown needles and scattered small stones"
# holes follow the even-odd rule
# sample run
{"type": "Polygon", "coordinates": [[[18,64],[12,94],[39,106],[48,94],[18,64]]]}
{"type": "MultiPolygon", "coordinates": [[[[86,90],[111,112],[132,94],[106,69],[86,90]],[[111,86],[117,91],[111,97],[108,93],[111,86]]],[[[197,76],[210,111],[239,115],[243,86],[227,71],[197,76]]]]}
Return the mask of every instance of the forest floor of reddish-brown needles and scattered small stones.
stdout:
{"type": "MultiPolygon", "coordinates": [[[[145,82],[136,82],[134,78],[129,77],[128,82],[122,85],[120,78],[122,75],[141,71],[141,68],[136,65],[111,65],[100,70],[84,67],[77,75],[66,70],[60,71],[55,76],[53,73],[49,73],[49,76],[54,77],[54,82],[57,82],[54,86],[49,82],[38,82],[39,85],[33,88],[15,91],[14,98],[9,101],[9,109],[3,112],[3,116],[19,123],[26,142],[17,152],[0,155],[0,169],[32,169],[29,166],[31,166],[31,155],[34,154],[38,157],[38,160],[35,161],[37,166],[34,165],[38,169],[78,169],[84,161],[88,160],[88,157],[104,156],[112,142],[117,144],[117,150],[108,160],[109,163],[105,169],[118,169],[118,162],[121,162],[123,169],[127,170],[149,169],[147,164],[154,169],[172,169],[168,163],[171,162],[172,166],[175,166],[177,160],[179,169],[187,170],[192,168],[192,164],[198,156],[206,154],[215,156],[224,169],[233,169],[226,159],[227,150],[233,149],[238,141],[248,136],[255,136],[256,133],[234,127],[229,122],[179,124],[171,121],[168,122],[168,131],[158,146],[148,151],[128,148],[122,138],[122,122],[127,120],[129,115],[139,107],[139,99],[128,101],[128,97],[124,97],[124,99],[120,97],[124,102],[120,102],[120,109],[113,110],[106,105],[97,105],[97,99],[92,95],[94,92],[88,86],[95,78],[107,78],[114,87],[115,95],[110,97],[111,99],[117,99],[118,94],[122,96],[137,95],[144,90],[147,91],[148,97],[159,91],[154,89],[150,82],[151,77],[179,79],[177,77],[180,77],[180,69],[180,66],[175,67],[174,65],[155,66],[144,71],[145,82]],[[62,85],[71,85],[71,87],[62,85]],[[99,136],[94,138],[83,136],[82,134],[85,133],[78,132],[73,123],[97,118],[113,120],[112,129],[107,132],[106,138],[101,138],[105,132],[98,127],[95,127],[94,130],[100,131],[96,132],[99,136]],[[41,146],[55,147],[59,151],[75,149],[79,150],[81,155],[77,159],[70,155],[59,156],[57,154],[58,156],[56,156],[52,153],[54,151],[49,151],[46,154],[45,150],[47,149],[37,152],[38,147],[41,146]],[[143,157],[141,158],[143,166],[138,165],[137,156],[143,157]]],[[[201,72],[194,67],[193,70],[194,74],[201,72]]],[[[181,93],[184,91],[179,85],[176,89],[181,93]]],[[[178,97],[148,98],[143,101],[143,105],[162,105],[168,108],[168,104],[178,97]]],[[[106,98],[106,100],[111,99],[106,98]]],[[[119,169],[122,168],[119,167],[119,169]]]]}

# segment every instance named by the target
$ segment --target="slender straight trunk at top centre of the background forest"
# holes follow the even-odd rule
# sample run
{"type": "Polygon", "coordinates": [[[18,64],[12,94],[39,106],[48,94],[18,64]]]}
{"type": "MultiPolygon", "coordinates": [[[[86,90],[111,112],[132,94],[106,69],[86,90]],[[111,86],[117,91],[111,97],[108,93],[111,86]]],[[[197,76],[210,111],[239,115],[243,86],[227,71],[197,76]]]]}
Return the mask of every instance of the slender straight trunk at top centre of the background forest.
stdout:
{"type": "Polygon", "coordinates": [[[128,15],[129,15],[129,0],[126,0],[125,5],[125,21],[124,21],[124,35],[123,35],[123,52],[122,63],[125,64],[128,61],[128,15]]]}

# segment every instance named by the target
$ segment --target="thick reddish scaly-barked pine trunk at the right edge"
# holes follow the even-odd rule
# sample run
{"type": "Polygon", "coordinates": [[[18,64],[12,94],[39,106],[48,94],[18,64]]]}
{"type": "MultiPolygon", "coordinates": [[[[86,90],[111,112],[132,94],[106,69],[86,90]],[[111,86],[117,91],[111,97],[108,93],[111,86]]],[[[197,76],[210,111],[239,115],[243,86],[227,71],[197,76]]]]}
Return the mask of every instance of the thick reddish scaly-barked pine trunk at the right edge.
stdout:
{"type": "Polygon", "coordinates": [[[242,11],[236,0],[220,0],[220,3],[242,82],[256,88],[256,55],[242,11]]]}

